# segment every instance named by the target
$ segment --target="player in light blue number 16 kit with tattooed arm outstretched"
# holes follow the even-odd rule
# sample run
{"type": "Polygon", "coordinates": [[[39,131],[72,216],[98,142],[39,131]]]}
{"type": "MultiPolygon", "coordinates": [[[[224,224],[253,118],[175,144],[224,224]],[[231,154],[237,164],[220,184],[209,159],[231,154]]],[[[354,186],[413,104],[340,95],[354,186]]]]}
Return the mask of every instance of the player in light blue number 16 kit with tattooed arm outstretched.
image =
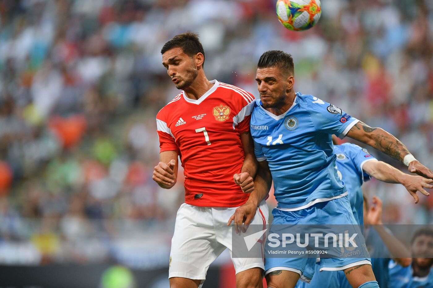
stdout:
{"type": "MultiPolygon", "coordinates": [[[[405,163],[410,172],[433,179],[432,171],[388,132],[371,128],[317,97],[295,93],[293,75],[290,54],[267,51],[260,57],[256,73],[260,101],[255,102],[250,126],[255,154],[265,171],[256,177],[255,189],[265,195],[268,185],[261,183],[271,179],[257,178],[268,176],[268,171],[274,180],[278,206],[273,224],[356,224],[346,186],[337,175],[332,134],[375,147],[405,163]]],[[[306,258],[266,259],[268,287],[294,287],[305,265],[306,258]]],[[[346,275],[353,287],[378,287],[368,258],[328,258],[320,265],[329,271],[356,267],[346,275]]]]}

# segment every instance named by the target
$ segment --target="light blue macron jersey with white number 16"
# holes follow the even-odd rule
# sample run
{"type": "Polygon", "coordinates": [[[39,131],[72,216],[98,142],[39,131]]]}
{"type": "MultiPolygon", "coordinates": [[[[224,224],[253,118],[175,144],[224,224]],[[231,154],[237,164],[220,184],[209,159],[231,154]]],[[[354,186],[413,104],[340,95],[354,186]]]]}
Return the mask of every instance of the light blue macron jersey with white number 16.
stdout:
{"type": "Polygon", "coordinates": [[[256,100],[250,121],[255,154],[268,161],[278,208],[299,210],[346,194],[331,135],[344,138],[357,122],[311,95],[296,93],[293,106],[279,116],[256,100]]]}

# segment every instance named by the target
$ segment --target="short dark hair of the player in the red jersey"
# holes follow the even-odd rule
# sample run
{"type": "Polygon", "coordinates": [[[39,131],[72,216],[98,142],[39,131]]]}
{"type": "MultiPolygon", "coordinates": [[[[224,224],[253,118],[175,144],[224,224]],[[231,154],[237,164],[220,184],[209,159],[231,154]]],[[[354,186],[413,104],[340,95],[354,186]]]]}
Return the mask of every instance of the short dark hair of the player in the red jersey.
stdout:
{"type": "Polygon", "coordinates": [[[197,53],[203,54],[203,64],[204,64],[204,49],[203,45],[201,45],[200,40],[198,39],[198,34],[187,31],[185,33],[179,34],[168,40],[162,46],[161,54],[164,54],[170,49],[173,48],[181,48],[182,51],[187,54],[189,57],[193,57],[197,53]]]}

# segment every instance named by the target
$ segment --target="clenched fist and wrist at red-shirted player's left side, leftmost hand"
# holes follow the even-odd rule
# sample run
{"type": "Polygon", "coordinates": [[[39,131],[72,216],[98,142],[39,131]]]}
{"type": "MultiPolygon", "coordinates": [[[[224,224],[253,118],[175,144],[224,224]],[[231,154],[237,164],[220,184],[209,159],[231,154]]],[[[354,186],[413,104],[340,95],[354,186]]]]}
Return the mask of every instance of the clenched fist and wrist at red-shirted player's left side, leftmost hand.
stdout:
{"type": "Polygon", "coordinates": [[[153,181],[164,189],[170,189],[178,179],[178,152],[164,151],[159,154],[159,163],[154,167],[153,181]]]}

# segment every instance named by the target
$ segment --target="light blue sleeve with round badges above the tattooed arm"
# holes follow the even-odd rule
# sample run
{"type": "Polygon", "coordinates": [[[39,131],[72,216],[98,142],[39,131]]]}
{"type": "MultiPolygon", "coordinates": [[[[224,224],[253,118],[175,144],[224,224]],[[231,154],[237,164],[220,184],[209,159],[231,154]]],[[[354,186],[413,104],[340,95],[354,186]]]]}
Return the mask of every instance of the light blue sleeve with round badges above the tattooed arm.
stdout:
{"type": "Polygon", "coordinates": [[[341,108],[324,102],[316,97],[308,99],[307,106],[310,112],[311,121],[317,131],[336,134],[339,138],[343,139],[350,128],[359,122],[358,119],[350,116],[341,108]]]}

